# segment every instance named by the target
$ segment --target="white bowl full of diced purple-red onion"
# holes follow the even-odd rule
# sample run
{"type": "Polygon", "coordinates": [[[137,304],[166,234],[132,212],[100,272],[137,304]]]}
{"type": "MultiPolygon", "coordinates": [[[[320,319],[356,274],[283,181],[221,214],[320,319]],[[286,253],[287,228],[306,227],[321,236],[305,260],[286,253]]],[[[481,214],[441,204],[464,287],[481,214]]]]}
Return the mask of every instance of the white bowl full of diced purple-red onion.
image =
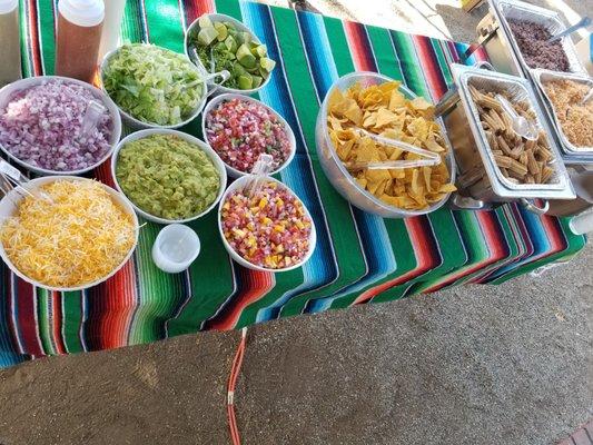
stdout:
{"type": "Polygon", "coordinates": [[[120,136],[117,106],[87,82],[40,76],[0,89],[0,149],[37,174],[90,171],[109,158],[120,136]],[[85,119],[91,102],[95,117],[85,119]]]}

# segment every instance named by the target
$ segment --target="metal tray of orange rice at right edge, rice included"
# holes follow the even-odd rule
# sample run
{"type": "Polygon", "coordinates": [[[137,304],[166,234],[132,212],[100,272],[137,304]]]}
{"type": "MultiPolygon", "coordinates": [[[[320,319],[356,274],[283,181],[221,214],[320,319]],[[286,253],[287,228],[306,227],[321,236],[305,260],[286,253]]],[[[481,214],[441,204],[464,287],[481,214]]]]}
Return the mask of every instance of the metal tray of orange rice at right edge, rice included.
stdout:
{"type": "Polygon", "coordinates": [[[548,70],[534,70],[533,77],[562,149],[593,159],[593,98],[586,99],[593,89],[593,78],[548,70]]]}

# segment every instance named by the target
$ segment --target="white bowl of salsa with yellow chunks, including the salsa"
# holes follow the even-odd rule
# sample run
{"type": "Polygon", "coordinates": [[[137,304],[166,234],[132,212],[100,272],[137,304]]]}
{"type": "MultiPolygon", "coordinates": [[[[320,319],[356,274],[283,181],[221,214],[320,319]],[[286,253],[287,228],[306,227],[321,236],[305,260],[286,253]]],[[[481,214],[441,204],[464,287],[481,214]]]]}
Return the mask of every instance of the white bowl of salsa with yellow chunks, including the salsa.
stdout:
{"type": "Polygon", "coordinates": [[[303,201],[283,182],[266,177],[233,182],[218,205],[218,229],[230,257],[253,270],[281,273],[303,266],[317,244],[315,224],[303,201]]]}

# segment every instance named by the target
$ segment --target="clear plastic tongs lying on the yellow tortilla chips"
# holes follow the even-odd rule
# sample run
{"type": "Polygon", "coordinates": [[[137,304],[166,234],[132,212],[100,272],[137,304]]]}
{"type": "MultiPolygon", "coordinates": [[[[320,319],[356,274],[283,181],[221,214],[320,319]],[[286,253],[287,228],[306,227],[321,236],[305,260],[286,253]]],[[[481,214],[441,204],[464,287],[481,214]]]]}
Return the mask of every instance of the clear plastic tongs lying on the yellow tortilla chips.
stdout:
{"type": "Polygon", "coordinates": [[[376,140],[379,144],[398,148],[403,151],[413,152],[415,155],[422,156],[424,159],[398,159],[398,160],[378,160],[378,161],[353,161],[346,162],[346,168],[349,171],[357,170],[391,170],[395,168],[414,168],[414,167],[429,167],[441,164],[441,156],[438,154],[425,150],[413,146],[412,144],[402,142],[401,140],[389,139],[379,135],[375,135],[370,131],[365,130],[364,128],[355,128],[353,131],[358,132],[359,135],[369,137],[370,139],[376,140]]]}

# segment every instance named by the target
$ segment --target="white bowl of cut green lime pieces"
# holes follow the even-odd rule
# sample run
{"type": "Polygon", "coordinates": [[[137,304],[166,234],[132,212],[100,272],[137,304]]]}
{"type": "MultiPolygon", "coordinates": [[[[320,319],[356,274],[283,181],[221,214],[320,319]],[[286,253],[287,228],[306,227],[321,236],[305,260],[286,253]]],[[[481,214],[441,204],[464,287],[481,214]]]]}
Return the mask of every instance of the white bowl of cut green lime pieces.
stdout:
{"type": "Polygon", "coordinates": [[[204,14],[187,28],[185,50],[201,71],[230,73],[221,86],[213,86],[220,92],[253,95],[269,82],[276,67],[249,28],[220,13],[204,14]]]}

